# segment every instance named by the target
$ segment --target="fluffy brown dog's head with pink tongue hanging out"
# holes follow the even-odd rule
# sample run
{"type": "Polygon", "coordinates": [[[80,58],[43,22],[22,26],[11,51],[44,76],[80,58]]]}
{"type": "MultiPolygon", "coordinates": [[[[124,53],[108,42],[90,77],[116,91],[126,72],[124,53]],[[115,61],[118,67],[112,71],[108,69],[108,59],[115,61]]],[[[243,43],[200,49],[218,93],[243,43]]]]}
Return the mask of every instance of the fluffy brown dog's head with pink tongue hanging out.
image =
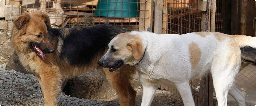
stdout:
{"type": "Polygon", "coordinates": [[[12,42],[19,53],[35,52],[43,60],[46,53],[54,52],[49,42],[47,27],[51,27],[49,16],[45,13],[24,12],[14,20],[12,42]]]}

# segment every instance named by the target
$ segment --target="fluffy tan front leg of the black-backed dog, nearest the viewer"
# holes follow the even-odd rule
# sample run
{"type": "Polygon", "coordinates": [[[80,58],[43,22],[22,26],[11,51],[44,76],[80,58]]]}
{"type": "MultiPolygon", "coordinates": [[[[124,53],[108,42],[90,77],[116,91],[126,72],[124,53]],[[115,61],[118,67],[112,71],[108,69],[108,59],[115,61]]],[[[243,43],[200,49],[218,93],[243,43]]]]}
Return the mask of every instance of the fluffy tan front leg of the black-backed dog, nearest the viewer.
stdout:
{"type": "Polygon", "coordinates": [[[62,75],[57,66],[43,67],[40,70],[40,85],[45,98],[45,106],[58,104],[57,94],[60,92],[62,75]]]}

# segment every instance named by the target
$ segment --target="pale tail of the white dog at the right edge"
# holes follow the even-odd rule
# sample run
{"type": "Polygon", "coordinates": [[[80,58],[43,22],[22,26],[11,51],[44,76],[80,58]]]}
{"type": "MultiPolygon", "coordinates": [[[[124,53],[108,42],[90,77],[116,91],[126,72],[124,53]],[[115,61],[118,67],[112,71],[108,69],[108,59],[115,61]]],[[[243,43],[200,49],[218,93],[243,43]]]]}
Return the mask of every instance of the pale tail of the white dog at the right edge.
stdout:
{"type": "Polygon", "coordinates": [[[245,35],[233,35],[234,39],[238,40],[240,47],[252,47],[256,48],[256,37],[245,35]]]}

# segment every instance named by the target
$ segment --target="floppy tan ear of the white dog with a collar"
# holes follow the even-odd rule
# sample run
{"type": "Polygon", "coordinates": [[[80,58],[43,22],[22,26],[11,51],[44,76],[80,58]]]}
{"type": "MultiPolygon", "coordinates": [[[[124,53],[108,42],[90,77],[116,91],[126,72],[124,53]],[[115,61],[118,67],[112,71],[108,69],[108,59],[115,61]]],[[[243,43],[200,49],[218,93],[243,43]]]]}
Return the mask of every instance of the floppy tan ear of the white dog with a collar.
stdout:
{"type": "Polygon", "coordinates": [[[143,46],[141,42],[136,42],[135,39],[132,39],[127,43],[127,48],[128,49],[132,48],[134,59],[140,60],[143,54],[143,46]]]}

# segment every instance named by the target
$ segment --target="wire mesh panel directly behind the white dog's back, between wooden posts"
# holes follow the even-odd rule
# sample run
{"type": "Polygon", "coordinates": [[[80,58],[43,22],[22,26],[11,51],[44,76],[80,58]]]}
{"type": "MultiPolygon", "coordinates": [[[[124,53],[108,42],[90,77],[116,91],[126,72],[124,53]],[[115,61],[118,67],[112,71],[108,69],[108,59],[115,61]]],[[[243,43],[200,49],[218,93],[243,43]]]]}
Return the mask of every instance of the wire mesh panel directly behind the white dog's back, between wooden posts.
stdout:
{"type": "MultiPolygon", "coordinates": [[[[201,31],[201,11],[197,9],[197,0],[163,1],[163,34],[186,34],[201,31]]],[[[199,104],[199,79],[190,81],[195,103],[199,104]]],[[[179,95],[175,85],[161,86],[179,95]]]]}

